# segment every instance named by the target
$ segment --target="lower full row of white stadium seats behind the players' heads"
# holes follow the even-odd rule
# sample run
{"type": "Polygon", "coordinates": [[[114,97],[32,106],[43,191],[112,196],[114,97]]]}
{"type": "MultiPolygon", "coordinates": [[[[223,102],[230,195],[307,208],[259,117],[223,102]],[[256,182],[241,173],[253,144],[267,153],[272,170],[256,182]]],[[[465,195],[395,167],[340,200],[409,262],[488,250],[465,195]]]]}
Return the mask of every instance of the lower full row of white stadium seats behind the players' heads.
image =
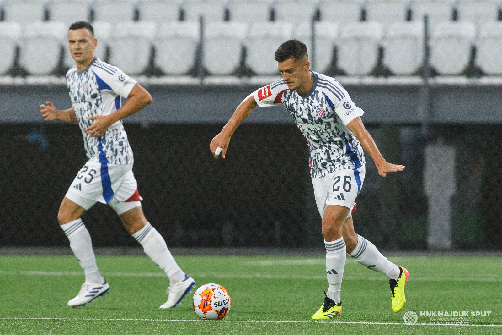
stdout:
{"type": "MultiPolygon", "coordinates": [[[[65,46],[67,26],[60,22],[35,22],[22,29],[19,23],[0,22],[0,73],[12,66],[16,46],[19,64],[31,74],[48,74],[57,66],[65,46]]],[[[194,65],[200,40],[197,22],[170,22],[158,28],[153,22],[123,22],[112,26],[95,22],[97,57],[104,59],[106,45],[109,62],[127,73],[141,73],[148,65],[155,46],[155,65],[166,74],[185,74],[194,65]]],[[[387,33],[377,22],[331,22],[315,24],[315,69],[330,66],[337,47],[337,66],[349,75],[366,75],[376,65],[380,46],[384,64],[394,74],[412,74],[422,64],[423,24],[396,22],[387,33]]],[[[486,74],[502,74],[502,22],[488,22],[476,28],[471,22],[450,21],[437,24],[431,35],[431,65],[441,74],[458,74],[468,64],[472,45],[476,63],[486,74]]],[[[240,62],[246,46],[246,65],[257,74],[277,73],[274,51],[284,41],[297,38],[311,49],[311,24],[262,22],[213,22],[205,26],[203,62],[215,75],[229,74],[240,62]]],[[[67,47],[65,46],[65,50],[67,47]]],[[[311,51],[309,51],[311,53],[311,51]]],[[[74,61],[65,51],[65,65],[74,61]]]]}

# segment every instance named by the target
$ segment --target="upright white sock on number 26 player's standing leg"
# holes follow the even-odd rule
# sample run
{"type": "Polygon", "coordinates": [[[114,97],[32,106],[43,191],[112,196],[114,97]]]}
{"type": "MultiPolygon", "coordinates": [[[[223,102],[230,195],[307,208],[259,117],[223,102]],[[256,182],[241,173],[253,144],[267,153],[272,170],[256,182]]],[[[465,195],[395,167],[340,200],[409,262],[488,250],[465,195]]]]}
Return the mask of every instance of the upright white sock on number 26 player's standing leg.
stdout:
{"type": "Polygon", "coordinates": [[[326,275],[329,283],[326,295],[337,304],[340,302],[343,270],[347,258],[345,240],[340,237],[332,242],[324,241],[324,245],[326,246],[326,275]]]}

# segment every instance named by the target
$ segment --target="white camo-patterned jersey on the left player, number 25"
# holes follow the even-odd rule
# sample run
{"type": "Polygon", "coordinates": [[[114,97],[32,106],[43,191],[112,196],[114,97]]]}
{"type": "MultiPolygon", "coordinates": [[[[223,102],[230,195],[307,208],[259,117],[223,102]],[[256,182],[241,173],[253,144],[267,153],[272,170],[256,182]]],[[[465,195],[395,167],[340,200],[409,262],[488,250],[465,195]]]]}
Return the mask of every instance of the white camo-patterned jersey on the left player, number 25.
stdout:
{"type": "Polygon", "coordinates": [[[94,115],[109,115],[120,108],[120,97],[127,98],[136,80],[97,58],[83,71],[74,66],[66,73],[66,86],[78,126],[84,137],[85,154],[90,161],[110,164],[132,164],[133,150],[129,145],[122,121],[113,123],[101,137],[84,132],[94,115]]]}

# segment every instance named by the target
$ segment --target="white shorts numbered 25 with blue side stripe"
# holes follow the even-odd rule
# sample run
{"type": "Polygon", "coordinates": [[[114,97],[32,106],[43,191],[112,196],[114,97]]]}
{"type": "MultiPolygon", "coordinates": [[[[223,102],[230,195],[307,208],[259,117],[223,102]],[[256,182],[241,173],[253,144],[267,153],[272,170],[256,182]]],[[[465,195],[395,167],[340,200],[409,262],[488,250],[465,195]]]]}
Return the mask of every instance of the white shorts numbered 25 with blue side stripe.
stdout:
{"type": "Polygon", "coordinates": [[[71,183],[66,198],[85,210],[96,202],[108,204],[120,215],[141,206],[133,164],[87,161],[71,183]]]}

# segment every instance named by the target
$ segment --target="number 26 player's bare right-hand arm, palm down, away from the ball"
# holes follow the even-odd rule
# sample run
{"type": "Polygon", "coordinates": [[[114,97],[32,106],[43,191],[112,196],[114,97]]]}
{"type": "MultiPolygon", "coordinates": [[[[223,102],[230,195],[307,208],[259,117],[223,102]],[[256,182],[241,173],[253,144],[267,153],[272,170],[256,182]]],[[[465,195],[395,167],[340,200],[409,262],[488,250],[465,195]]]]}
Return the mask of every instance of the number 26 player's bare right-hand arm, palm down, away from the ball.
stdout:
{"type": "Polygon", "coordinates": [[[404,165],[392,164],[385,160],[384,156],[380,153],[380,150],[376,147],[373,138],[369,132],[362,124],[361,117],[358,116],[347,124],[347,128],[354,134],[354,136],[359,140],[361,146],[366,150],[373,161],[375,162],[376,169],[380,176],[387,176],[388,172],[398,172],[405,169],[404,165]]]}

